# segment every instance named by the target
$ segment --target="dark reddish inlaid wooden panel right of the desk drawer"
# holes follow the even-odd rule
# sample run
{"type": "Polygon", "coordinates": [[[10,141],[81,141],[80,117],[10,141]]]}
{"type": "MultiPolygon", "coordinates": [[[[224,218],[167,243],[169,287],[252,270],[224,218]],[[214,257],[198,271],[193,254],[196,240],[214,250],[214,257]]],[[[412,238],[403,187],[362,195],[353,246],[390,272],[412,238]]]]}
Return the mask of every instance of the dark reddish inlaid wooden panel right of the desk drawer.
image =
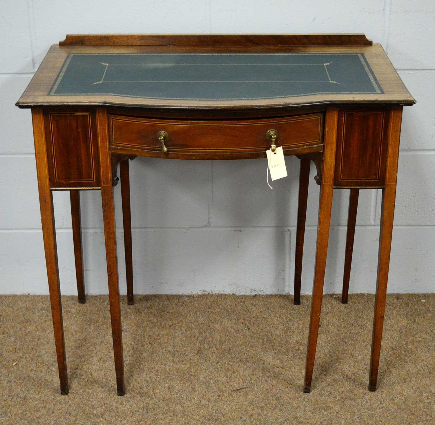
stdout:
{"type": "Polygon", "coordinates": [[[388,109],[340,112],[335,186],[384,185],[388,118],[388,109]]]}

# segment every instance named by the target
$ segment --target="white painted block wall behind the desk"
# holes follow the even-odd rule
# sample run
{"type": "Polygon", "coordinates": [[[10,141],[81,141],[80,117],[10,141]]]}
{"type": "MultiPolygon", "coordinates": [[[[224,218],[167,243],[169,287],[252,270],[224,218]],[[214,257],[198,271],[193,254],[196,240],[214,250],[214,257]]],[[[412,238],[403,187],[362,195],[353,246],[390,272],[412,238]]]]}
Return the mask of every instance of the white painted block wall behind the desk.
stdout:
{"type": "MultiPolygon", "coordinates": [[[[389,292],[435,290],[435,3],[427,0],[0,0],[0,293],[48,293],[29,110],[14,103],[66,33],[366,33],[417,105],[404,110],[389,292]]],[[[131,163],[136,293],[293,293],[299,162],[131,163]]],[[[311,169],[314,175],[314,169],[311,169]]],[[[311,179],[302,292],[311,292],[318,186],[311,179]]],[[[120,188],[120,290],[125,293],[120,188]]],[[[100,193],[82,192],[87,293],[107,293],[100,193]]],[[[69,196],[54,193],[61,289],[75,294],[69,196]]],[[[348,191],[335,191],[325,292],[340,292],[348,191]]],[[[375,291],[380,194],[360,194],[350,292],[375,291]]]]}

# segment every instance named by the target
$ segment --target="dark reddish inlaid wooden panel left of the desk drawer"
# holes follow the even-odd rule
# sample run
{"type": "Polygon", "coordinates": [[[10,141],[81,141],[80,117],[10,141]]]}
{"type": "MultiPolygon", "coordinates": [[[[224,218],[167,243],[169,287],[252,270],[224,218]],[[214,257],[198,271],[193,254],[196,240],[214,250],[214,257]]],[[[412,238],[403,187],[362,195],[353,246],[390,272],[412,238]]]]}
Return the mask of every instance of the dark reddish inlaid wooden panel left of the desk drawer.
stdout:
{"type": "Polygon", "coordinates": [[[52,188],[100,186],[94,112],[47,111],[44,114],[52,188]]]}

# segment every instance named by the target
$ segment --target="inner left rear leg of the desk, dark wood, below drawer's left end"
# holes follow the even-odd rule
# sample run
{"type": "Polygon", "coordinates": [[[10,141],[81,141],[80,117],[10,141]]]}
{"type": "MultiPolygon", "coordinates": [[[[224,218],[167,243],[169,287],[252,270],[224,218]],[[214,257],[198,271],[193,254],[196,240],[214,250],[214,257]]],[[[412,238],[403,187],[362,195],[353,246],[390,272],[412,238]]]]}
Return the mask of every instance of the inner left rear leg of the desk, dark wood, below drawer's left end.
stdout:
{"type": "Polygon", "coordinates": [[[133,295],[133,250],[131,243],[130,173],[128,159],[121,161],[120,180],[122,198],[122,221],[124,224],[125,274],[127,277],[127,304],[134,304],[133,295]]]}

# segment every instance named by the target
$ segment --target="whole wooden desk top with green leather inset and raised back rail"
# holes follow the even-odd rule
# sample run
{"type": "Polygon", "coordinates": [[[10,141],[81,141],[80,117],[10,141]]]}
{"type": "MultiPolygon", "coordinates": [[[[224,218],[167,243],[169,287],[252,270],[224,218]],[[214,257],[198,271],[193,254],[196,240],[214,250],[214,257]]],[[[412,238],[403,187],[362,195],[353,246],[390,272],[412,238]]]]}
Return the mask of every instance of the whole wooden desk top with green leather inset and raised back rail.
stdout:
{"type": "Polygon", "coordinates": [[[257,109],[415,100],[363,35],[67,36],[17,106],[257,109]]]}

